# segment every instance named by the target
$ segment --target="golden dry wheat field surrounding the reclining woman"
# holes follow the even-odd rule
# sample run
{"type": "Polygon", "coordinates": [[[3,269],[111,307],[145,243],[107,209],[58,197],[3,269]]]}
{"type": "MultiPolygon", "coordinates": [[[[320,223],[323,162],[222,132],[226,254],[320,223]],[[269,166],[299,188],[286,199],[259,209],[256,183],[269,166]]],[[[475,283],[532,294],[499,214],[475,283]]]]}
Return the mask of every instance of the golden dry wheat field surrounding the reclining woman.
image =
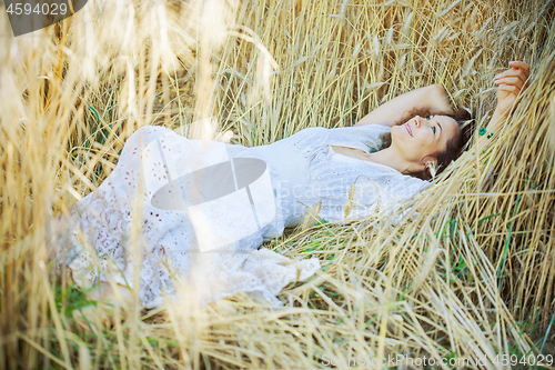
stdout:
{"type": "Polygon", "coordinates": [[[495,369],[554,354],[554,16],[548,0],[90,0],[18,38],[2,16],[0,367],[387,368],[369,361],[406,356],[495,369]],[[323,266],[281,309],[235,296],[147,311],[135,297],[122,311],[58,268],[57,218],[142,126],[259,146],[443,83],[477,132],[511,60],[532,66],[521,103],[475,162],[434,180],[426,210],[401,224],[307,214],[264,246],[323,266]]]}

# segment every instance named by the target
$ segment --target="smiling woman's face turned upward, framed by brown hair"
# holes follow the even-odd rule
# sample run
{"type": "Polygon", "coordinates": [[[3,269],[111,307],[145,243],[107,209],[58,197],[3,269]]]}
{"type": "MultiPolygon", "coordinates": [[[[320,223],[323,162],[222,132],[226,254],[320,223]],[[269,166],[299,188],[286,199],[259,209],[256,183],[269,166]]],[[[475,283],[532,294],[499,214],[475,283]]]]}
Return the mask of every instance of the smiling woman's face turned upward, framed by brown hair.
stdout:
{"type": "Polygon", "coordinates": [[[447,141],[458,133],[458,123],[447,116],[416,116],[391,129],[392,147],[415,164],[436,161],[436,153],[445,150],[447,141]]]}

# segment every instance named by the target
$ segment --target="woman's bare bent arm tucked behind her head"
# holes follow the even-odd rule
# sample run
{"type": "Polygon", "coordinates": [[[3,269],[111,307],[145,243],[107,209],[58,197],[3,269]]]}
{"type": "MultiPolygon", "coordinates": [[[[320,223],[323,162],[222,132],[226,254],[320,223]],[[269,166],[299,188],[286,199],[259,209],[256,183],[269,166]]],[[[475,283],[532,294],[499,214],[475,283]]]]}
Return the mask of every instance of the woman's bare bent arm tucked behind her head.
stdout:
{"type": "Polygon", "coordinates": [[[411,111],[430,111],[433,114],[453,114],[447,93],[442,84],[431,84],[405,92],[374,109],[354,126],[402,124],[411,117],[411,111]]]}

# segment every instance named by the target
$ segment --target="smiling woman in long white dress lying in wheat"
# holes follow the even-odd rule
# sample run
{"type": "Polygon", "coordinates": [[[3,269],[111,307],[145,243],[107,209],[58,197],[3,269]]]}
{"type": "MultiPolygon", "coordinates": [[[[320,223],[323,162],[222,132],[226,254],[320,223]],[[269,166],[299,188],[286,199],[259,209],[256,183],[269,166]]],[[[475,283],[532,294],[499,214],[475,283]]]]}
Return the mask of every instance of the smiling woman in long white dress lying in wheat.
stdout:
{"type": "MultiPolygon", "coordinates": [[[[509,64],[496,77],[490,132],[529,74],[526,63],[509,64]]],[[[98,284],[108,294],[138,287],[148,308],[179,297],[180,282],[196,287],[201,303],[242,291],[280,304],[275,294],[320,264],[293,263],[256,250],[260,244],[297,224],[309,207],[341,221],[413,197],[428,184],[422,178],[462,148],[453,113],[445,90],[434,84],[382,104],[355,127],[307,128],[254,148],[144,127],[128,140],[114,171],[72,210],[59,251],[79,286],[98,284]],[[405,121],[415,111],[432,114],[405,121]]]]}

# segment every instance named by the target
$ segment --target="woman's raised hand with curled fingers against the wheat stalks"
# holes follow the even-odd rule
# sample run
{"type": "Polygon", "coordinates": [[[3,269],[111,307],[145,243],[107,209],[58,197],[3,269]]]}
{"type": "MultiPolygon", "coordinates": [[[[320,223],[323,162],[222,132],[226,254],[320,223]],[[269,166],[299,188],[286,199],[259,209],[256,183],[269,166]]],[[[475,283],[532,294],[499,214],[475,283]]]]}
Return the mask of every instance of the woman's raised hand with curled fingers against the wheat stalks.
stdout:
{"type": "Polygon", "coordinates": [[[516,97],[527,87],[526,80],[529,76],[529,66],[522,61],[508,62],[511,69],[495,77],[497,84],[497,110],[504,114],[513,106],[516,97]]]}

